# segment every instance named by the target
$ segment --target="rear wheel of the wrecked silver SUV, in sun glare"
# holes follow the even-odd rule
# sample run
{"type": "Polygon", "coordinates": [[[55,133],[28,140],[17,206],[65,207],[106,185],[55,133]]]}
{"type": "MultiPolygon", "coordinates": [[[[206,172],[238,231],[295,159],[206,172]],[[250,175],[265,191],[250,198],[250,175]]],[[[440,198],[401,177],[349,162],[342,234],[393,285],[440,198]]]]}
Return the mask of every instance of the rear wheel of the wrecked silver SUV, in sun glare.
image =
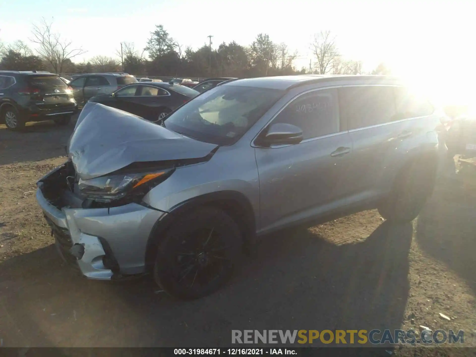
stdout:
{"type": "Polygon", "coordinates": [[[433,193],[437,160],[413,160],[397,175],[388,198],[378,208],[378,213],[388,221],[410,222],[417,218],[426,200],[433,193]]]}

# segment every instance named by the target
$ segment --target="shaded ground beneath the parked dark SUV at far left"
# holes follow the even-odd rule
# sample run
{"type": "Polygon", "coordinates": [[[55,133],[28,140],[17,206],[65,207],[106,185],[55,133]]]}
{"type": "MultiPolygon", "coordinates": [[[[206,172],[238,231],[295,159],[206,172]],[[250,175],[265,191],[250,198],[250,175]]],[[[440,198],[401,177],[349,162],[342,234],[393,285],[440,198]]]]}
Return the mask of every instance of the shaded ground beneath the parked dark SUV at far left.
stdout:
{"type": "Polygon", "coordinates": [[[28,123],[21,132],[0,125],[0,165],[66,155],[65,145],[75,122],[66,126],[57,126],[52,120],[28,123]]]}

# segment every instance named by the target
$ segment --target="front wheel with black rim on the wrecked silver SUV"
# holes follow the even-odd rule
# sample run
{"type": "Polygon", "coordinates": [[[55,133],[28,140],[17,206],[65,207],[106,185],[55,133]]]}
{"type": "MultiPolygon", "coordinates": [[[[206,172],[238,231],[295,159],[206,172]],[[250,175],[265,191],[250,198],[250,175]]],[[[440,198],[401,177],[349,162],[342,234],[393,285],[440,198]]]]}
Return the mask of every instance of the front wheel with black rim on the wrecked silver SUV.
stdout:
{"type": "Polygon", "coordinates": [[[241,244],[233,218],[217,208],[200,208],[179,218],[159,242],[154,279],[173,297],[209,295],[231,277],[241,244]]]}

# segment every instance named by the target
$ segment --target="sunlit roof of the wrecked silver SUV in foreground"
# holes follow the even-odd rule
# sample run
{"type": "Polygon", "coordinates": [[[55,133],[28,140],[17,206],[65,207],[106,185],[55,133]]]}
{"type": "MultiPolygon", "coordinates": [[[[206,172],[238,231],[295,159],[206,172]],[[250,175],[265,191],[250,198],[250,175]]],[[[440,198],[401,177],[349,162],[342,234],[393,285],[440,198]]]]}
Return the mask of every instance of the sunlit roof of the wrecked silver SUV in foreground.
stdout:
{"type": "Polygon", "coordinates": [[[258,77],[230,80],[229,82],[220,84],[223,86],[247,86],[260,87],[269,89],[291,89],[307,84],[318,82],[335,82],[335,81],[368,81],[375,83],[395,83],[399,80],[392,76],[377,76],[377,75],[297,75],[297,76],[275,76],[275,77],[258,77]]]}

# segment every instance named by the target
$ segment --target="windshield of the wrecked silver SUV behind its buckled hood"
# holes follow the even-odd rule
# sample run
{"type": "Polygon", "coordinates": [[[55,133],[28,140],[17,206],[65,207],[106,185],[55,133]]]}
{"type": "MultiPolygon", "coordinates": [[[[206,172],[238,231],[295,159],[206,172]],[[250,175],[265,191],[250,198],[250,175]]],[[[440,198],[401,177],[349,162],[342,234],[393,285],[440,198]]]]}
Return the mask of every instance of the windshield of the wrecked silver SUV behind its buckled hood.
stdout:
{"type": "Polygon", "coordinates": [[[172,113],[164,126],[200,141],[231,145],[283,94],[279,89],[218,86],[172,113]]]}

